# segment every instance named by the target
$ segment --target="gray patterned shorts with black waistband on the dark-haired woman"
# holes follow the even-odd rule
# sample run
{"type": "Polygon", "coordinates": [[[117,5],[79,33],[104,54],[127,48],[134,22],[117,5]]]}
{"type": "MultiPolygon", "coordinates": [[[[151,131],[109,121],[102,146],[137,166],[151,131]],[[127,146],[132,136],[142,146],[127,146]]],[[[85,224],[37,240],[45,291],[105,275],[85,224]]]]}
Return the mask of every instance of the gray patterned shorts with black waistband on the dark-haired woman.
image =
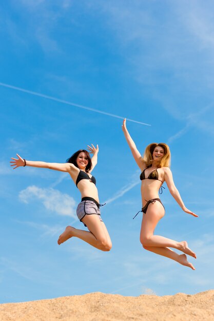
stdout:
{"type": "Polygon", "coordinates": [[[82,198],[81,203],[76,208],[76,214],[77,214],[77,217],[80,219],[80,222],[82,222],[82,219],[86,214],[87,215],[91,215],[91,214],[99,215],[101,222],[103,222],[103,220],[101,218],[101,214],[100,214],[100,204],[98,204],[98,202],[96,202],[96,200],[93,199],[92,197],[83,197],[82,198]]]}

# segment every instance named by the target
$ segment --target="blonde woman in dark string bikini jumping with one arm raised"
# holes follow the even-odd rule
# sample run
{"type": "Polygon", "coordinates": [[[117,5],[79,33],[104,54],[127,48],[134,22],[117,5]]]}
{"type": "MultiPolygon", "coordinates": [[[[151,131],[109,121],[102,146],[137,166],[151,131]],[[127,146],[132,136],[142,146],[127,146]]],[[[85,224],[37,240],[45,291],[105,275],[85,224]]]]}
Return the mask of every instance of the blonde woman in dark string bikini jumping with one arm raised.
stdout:
{"type": "Polygon", "coordinates": [[[142,157],[126,128],[126,119],[123,121],[122,129],[134,160],[141,170],[142,210],[140,212],[143,213],[143,219],[140,242],[143,245],[143,248],[156,254],[171,258],[178,263],[195,270],[193,265],[188,262],[186,254],[196,258],[196,253],[188,248],[186,241],[178,242],[153,234],[159,220],[165,214],[164,206],[158,194],[160,189],[160,193],[162,193],[163,182],[166,182],[171,195],[180,205],[182,210],[194,217],[198,217],[198,215],[185,207],[179,191],[174,185],[172,173],[169,169],[169,146],[164,143],[152,143],[146,147],[144,156],[142,157]],[[185,254],[178,254],[170,248],[180,250],[185,254]]]}

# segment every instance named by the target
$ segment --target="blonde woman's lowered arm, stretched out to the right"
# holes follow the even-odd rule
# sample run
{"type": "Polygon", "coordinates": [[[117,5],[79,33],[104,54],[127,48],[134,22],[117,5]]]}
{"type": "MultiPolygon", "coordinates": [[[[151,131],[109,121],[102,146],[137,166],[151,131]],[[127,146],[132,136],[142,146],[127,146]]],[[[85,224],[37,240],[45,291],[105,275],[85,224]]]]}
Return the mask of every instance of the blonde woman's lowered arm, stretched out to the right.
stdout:
{"type": "Polygon", "coordinates": [[[176,200],[176,202],[180,205],[180,207],[182,208],[182,210],[188,214],[193,215],[194,217],[198,217],[197,214],[191,212],[190,210],[188,210],[184,203],[183,200],[181,198],[181,195],[179,194],[178,189],[176,188],[176,186],[174,185],[173,182],[173,177],[172,177],[172,173],[170,171],[170,169],[168,167],[165,168],[164,170],[164,179],[166,181],[166,184],[168,186],[169,192],[171,193],[171,195],[174,197],[174,199],[176,200]]]}

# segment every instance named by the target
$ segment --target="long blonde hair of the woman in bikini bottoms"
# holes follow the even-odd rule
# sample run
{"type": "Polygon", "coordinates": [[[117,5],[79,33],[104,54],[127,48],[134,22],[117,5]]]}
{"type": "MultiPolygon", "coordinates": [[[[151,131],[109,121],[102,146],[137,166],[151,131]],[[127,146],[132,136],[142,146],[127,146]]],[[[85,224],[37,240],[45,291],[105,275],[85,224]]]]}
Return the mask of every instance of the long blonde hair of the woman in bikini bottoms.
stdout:
{"type": "Polygon", "coordinates": [[[169,146],[166,145],[165,143],[159,143],[159,144],[158,143],[151,143],[151,144],[149,144],[146,147],[144,155],[142,157],[143,162],[146,164],[147,167],[152,165],[152,162],[153,162],[152,154],[153,154],[155,147],[157,147],[157,146],[162,147],[164,150],[164,156],[161,157],[161,159],[159,160],[158,167],[164,167],[164,166],[170,167],[171,154],[170,154],[169,146]]]}

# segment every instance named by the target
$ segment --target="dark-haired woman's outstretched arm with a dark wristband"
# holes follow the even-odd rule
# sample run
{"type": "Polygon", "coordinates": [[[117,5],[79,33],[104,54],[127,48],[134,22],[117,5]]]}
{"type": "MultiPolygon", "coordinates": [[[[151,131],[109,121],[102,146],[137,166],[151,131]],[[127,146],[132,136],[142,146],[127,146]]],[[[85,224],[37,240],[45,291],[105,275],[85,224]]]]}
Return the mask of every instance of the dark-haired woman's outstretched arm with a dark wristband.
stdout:
{"type": "Polygon", "coordinates": [[[37,167],[37,168],[48,168],[48,169],[53,169],[56,171],[61,171],[61,172],[69,172],[72,168],[72,164],[70,163],[65,163],[65,164],[60,164],[60,163],[46,163],[46,162],[35,162],[33,160],[25,160],[22,158],[20,155],[16,154],[18,158],[13,158],[13,161],[10,166],[14,166],[13,169],[16,169],[17,167],[20,166],[31,166],[31,167],[37,167]]]}

